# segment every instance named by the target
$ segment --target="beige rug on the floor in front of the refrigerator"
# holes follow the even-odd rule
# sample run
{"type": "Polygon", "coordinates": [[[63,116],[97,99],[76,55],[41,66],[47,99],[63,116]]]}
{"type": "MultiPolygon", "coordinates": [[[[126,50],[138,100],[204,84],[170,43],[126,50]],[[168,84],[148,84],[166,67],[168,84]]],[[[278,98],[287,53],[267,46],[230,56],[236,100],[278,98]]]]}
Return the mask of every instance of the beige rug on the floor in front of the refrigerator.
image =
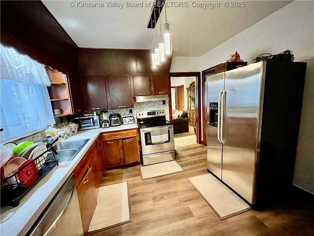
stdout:
{"type": "Polygon", "coordinates": [[[211,174],[191,177],[188,178],[188,181],[221,220],[251,209],[248,204],[211,174]]]}

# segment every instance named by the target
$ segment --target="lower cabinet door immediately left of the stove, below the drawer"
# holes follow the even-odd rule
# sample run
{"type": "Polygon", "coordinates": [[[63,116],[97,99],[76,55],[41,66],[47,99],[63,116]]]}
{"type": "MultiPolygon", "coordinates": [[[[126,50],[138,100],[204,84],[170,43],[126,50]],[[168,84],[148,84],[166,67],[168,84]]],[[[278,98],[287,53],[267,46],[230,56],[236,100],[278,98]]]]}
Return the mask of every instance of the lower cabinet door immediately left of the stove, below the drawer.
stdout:
{"type": "Polygon", "coordinates": [[[139,147],[137,137],[125,139],[122,142],[125,164],[129,165],[134,162],[139,162],[139,147]]]}

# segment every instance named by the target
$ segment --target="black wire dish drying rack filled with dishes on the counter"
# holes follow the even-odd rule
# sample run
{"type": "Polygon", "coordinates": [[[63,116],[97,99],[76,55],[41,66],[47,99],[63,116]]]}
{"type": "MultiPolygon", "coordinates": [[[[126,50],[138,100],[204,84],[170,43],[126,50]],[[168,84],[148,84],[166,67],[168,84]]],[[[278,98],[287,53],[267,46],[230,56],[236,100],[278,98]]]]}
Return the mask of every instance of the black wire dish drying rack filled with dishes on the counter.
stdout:
{"type": "MultiPolygon", "coordinates": [[[[20,168],[14,174],[9,177],[1,177],[0,193],[1,207],[12,206],[17,207],[20,204],[21,199],[43,178],[45,177],[53,167],[58,165],[58,160],[56,155],[57,151],[53,148],[54,143],[56,143],[58,137],[52,138],[50,141],[46,141],[47,150],[41,153],[39,156],[33,158],[32,161],[28,162],[25,166],[20,168]],[[47,155],[46,155],[47,153],[47,155]],[[44,160],[44,161],[43,161],[44,160]],[[28,187],[25,184],[21,183],[19,177],[21,175],[24,179],[27,180],[27,177],[31,177],[31,170],[27,171],[26,168],[29,168],[31,165],[37,167],[37,178],[36,180],[28,187]],[[24,172],[23,172],[24,171],[24,172]],[[23,173],[23,174],[22,174],[23,173]],[[28,175],[28,176],[25,176],[28,175]],[[12,180],[13,179],[13,180],[12,180]],[[10,181],[7,181],[10,180],[10,181]]],[[[30,168],[31,169],[31,168],[30,168]]],[[[33,170],[34,172],[34,170],[33,170]]]]}

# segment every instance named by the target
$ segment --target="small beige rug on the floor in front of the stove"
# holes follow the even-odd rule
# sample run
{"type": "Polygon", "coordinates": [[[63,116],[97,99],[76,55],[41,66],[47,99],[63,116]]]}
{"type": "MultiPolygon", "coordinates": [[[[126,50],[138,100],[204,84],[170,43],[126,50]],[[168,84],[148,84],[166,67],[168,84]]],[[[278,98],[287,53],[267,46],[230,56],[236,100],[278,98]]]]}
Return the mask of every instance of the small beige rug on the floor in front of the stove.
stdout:
{"type": "Polygon", "coordinates": [[[181,172],[183,169],[176,161],[167,161],[140,168],[142,180],[181,172]]]}

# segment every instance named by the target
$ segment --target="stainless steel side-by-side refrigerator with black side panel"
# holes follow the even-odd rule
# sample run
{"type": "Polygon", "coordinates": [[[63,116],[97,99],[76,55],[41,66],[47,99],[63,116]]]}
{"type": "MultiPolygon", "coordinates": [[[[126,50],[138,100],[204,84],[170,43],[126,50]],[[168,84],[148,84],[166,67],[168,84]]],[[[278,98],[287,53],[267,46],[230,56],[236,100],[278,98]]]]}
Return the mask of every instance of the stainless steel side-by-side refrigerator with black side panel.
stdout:
{"type": "Polygon", "coordinates": [[[208,76],[207,167],[252,206],[292,185],[306,63],[208,76]]]}

